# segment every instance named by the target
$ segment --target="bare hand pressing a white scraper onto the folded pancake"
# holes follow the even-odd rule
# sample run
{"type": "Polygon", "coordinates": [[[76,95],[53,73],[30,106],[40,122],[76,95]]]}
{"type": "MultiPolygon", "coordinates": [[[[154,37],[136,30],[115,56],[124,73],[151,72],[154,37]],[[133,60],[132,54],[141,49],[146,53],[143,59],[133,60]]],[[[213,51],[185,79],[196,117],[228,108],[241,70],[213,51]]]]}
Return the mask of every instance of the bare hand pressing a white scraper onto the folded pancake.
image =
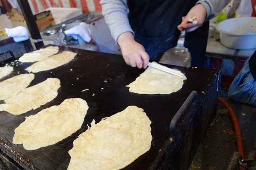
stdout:
{"type": "Polygon", "coordinates": [[[134,40],[131,32],[122,33],[117,42],[127,65],[138,68],[146,68],[148,66],[149,55],[144,47],[134,40]]]}

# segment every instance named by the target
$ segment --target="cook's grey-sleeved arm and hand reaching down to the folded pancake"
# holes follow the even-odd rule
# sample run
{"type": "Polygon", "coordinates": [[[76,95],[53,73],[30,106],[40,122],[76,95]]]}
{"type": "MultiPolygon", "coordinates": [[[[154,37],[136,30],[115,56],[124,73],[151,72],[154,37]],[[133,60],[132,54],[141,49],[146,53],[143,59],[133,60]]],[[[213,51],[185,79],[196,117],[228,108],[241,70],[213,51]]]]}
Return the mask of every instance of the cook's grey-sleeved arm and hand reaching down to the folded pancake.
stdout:
{"type": "Polygon", "coordinates": [[[111,35],[121,48],[126,64],[146,68],[149,56],[144,47],[134,40],[134,32],[127,17],[129,10],[126,0],[101,0],[100,4],[111,35]]]}

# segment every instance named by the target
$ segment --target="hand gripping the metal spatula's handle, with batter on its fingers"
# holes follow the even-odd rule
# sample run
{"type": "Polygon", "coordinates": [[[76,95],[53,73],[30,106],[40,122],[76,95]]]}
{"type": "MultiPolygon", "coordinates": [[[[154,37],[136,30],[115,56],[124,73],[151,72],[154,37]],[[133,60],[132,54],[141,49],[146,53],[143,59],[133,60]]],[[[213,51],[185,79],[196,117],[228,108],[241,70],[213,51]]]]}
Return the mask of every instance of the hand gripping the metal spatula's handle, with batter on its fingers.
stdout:
{"type": "Polygon", "coordinates": [[[182,22],[178,25],[178,29],[182,31],[182,29],[186,29],[186,32],[191,32],[196,30],[198,27],[201,27],[206,18],[206,9],[202,4],[197,4],[193,8],[190,9],[188,14],[182,17],[182,22]],[[197,23],[191,23],[188,19],[196,17],[197,23]]]}

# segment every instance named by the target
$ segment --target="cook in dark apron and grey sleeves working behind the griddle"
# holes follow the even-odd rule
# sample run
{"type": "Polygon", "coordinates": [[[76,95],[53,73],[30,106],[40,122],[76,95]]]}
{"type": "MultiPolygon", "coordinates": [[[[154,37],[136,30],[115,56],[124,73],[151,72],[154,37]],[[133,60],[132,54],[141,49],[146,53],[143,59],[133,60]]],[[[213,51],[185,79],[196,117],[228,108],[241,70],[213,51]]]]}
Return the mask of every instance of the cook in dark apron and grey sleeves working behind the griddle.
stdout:
{"type": "Polygon", "coordinates": [[[186,29],[184,46],[192,55],[191,64],[203,65],[208,20],[216,15],[216,4],[210,0],[101,0],[100,4],[126,64],[146,68],[149,60],[158,61],[175,47],[180,31],[186,29]],[[188,22],[193,17],[196,22],[188,22]]]}

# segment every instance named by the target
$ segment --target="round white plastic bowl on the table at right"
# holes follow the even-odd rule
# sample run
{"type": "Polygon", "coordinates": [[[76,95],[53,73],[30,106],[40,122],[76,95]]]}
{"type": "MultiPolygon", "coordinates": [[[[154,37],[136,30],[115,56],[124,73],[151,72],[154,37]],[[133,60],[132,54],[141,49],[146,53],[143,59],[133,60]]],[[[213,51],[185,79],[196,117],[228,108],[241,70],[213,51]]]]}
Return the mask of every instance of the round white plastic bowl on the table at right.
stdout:
{"type": "Polygon", "coordinates": [[[239,50],[256,48],[256,17],[230,18],[218,23],[222,45],[239,50]],[[246,33],[251,27],[250,33],[246,33]]]}

